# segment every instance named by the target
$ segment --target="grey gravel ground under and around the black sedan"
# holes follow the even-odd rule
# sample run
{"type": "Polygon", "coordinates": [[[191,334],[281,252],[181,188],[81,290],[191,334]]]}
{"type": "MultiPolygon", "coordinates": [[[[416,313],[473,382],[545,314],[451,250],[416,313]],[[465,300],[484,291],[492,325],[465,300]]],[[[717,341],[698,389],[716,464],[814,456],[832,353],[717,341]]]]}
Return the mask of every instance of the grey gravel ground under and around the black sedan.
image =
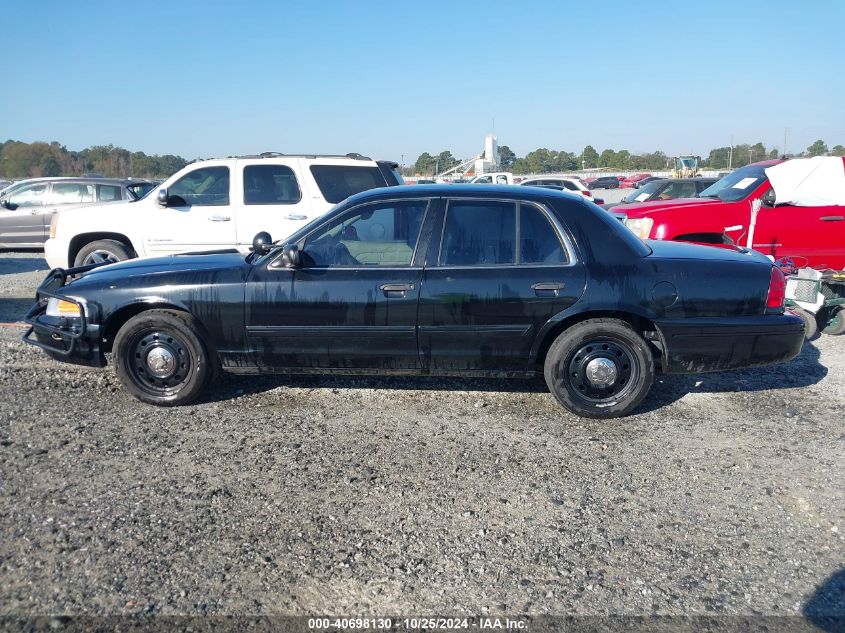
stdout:
{"type": "MultiPolygon", "coordinates": [[[[0,256],[0,320],[44,268],[0,256]]],[[[228,378],[160,409],[19,336],[0,615],[845,615],[843,338],[595,422],[530,381],[228,378]]]]}

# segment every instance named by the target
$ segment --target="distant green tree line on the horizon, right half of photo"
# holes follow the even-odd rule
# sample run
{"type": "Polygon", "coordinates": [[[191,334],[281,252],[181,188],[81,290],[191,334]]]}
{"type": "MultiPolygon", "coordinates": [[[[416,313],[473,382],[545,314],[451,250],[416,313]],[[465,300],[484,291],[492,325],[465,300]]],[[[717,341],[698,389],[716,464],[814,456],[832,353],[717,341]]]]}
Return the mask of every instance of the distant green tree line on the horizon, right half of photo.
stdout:
{"type": "MultiPolygon", "coordinates": [[[[717,147],[711,149],[707,157],[701,157],[701,167],[704,169],[743,167],[757,161],[778,158],[779,155],[777,148],[767,148],[763,143],[717,147]]],[[[795,156],[845,156],[845,147],[835,145],[833,149],[828,149],[824,141],[818,140],[806,151],[795,156]]],[[[659,171],[666,169],[670,160],[670,157],[661,151],[633,154],[625,149],[619,151],[605,149],[599,153],[592,145],[587,145],[579,154],[541,147],[521,157],[507,145],[500,145],[499,158],[502,169],[515,174],[542,174],[602,167],[619,171],[659,171]]],[[[407,175],[439,174],[461,162],[449,150],[438,154],[423,152],[416,162],[406,169],[406,172],[407,175]]]]}

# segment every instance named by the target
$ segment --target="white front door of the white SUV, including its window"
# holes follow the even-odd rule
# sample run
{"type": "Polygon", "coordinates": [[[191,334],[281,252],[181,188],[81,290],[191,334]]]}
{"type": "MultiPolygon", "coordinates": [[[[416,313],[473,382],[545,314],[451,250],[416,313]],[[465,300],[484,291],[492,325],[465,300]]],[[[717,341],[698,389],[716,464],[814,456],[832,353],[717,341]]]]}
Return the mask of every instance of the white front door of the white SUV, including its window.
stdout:
{"type": "Polygon", "coordinates": [[[150,200],[152,212],[144,232],[147,254],[233,248],[236,209],[231,189],[228,167],[200,167],[168,187],[166,207],[150,200]]]}

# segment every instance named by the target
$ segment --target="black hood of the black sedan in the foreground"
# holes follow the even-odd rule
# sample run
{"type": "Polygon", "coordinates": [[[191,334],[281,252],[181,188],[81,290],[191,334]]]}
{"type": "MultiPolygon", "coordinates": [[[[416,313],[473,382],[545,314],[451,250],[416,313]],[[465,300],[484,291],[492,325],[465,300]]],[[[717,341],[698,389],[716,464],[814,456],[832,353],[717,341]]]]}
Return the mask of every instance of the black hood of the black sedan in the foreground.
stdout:
{"type": "Polygon", "coordinates": [[[68,285],[81,288],[88,284],[110,283],[139,275],[162,275],[184,272],[212,273],[222,269],[241,268],[248,265],[246,263],[246,255],[234,250],[129,259],[125,262],[95,268],[68,285]]]}

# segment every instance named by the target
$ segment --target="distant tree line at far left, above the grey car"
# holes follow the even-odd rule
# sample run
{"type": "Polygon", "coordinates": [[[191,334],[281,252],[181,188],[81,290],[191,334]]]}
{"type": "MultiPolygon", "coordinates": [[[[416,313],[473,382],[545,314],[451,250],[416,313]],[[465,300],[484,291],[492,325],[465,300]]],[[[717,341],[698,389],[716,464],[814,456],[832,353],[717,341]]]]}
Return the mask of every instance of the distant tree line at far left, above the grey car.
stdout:
{"type": "Polygon", "coordinates": [[[130,152],[114,145],[95,145],[82,151],[52,143],[0,142],[0,176],[81,176],[96,173],[112,178],[166,178],[190,161],[172,154],[130,152]]]}

